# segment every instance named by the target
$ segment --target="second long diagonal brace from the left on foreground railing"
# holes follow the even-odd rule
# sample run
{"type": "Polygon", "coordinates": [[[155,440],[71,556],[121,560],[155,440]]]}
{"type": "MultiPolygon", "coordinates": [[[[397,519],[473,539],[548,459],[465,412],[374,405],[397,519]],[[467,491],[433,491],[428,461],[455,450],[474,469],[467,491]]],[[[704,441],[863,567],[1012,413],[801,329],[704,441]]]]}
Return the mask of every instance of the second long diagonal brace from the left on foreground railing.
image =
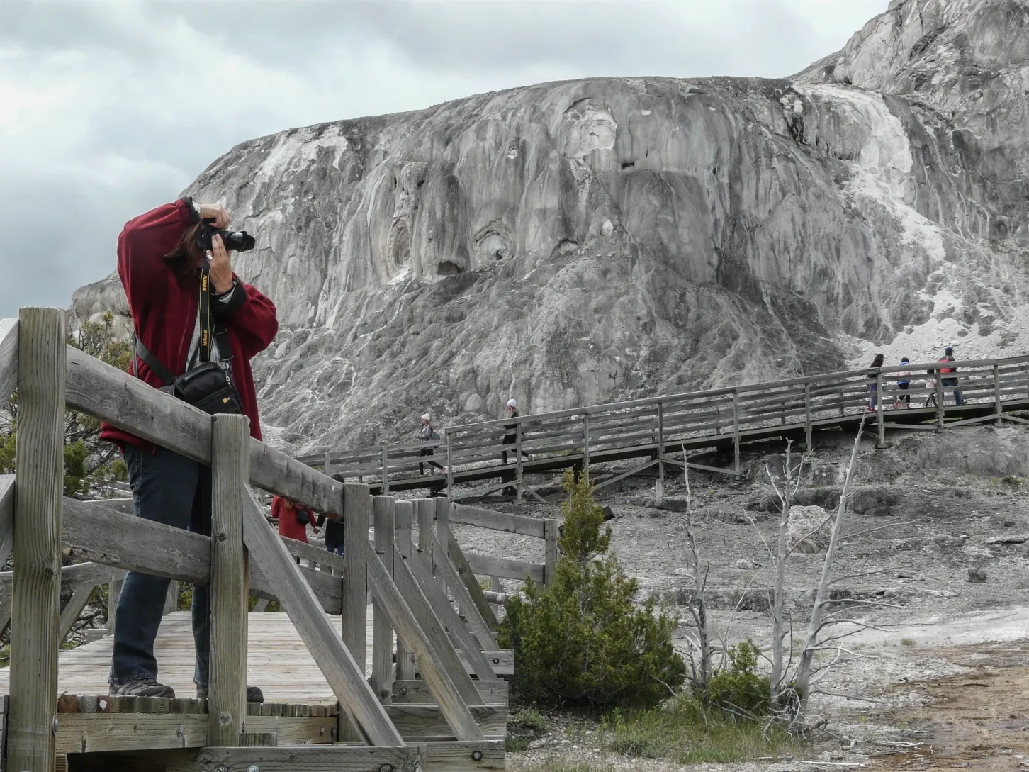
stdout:
{"type": "Polygon", "coordinates": [[[379,556],[370,556],[368,582],[371,584],[372,594],[382,603],[397,635],[415,653],[422,675],[457,738],[482,740],[483,733],[468,711],[467,704],[482,698],[395,547],[393,553],[393,578],[387,573],[379,556]],[[468,687],[471,689],[470,695],[468,687]]]}

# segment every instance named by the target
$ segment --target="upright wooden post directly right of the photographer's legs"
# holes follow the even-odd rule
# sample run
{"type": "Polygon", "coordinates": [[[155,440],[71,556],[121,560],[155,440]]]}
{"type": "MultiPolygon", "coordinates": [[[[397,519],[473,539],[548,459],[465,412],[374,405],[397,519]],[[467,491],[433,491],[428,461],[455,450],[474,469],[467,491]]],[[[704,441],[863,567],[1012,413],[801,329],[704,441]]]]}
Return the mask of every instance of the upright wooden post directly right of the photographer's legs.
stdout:
{"type": "Polygon", "coordinates": [[[250,482],[250,419],[211,423],[211,672],[208,742],[237,745],[247,715],[247,555],[243,493],[250,482]]]}

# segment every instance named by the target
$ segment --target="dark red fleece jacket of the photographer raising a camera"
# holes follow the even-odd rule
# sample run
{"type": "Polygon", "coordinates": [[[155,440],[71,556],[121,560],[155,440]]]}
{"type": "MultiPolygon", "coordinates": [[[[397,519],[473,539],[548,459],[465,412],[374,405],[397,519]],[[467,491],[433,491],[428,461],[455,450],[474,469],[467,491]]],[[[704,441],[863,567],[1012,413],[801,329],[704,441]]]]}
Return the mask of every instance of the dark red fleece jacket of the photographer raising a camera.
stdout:
{"type": "MultiPolygon", "coordinates": [[[[186,366],[189,341],[197,323],[200,285],[199,279],[180,284],[165,262],[165,255],[175,248],[182,232],[196,222],[192,207],[179,200],[129,220],[118,237],[118,276],[129,297],[136,335],[176,376],[186,366]]],[[[246,300],[225,320],[225,326],[233,351],[233,378],[243,399],[243,412],[250,417],[250,434],[260,440],[257,393],[250,359],[272,343],[279,322],[272,301],[249,284],[240,284],[246,290],[246,300]]],[[[154,388],[166,385],[138,357],[137,364],[140,379],[154,388]]],[[[129,372],[132,372],[131,365],[129,372]]],[[[121,446],[153,447],[107,423],[100,436],[121,446]]]]}

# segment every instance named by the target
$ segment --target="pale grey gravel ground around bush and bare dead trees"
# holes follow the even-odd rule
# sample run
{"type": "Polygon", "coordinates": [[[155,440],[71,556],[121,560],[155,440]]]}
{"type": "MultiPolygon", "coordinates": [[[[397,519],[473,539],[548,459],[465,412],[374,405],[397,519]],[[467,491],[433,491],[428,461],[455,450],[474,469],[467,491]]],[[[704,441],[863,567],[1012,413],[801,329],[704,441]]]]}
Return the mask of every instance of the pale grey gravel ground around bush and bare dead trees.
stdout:
{"type": "MultiPolygon", "coordinates": [[[[1029,682],[1029,607],[1021,605],[1029,587],[1029,513],[1022,482],[1026,438],[1021,428],[990,427],[942,435],[891,435],[892,447],[885,450],[862,443],[853,505],[863,512],[845,516],[843,532],[854,535],[845,540],[833,575],[850,576],[836,589],[859,601],[852,606],[853,616],[877,629],[848,639],[847,647],[859,658],[836,668],[826,678],[823,687],[831,696],[813,700],[813,706],[828,720],[831,736],[805,760],[732,765],[733,769],[816,769],[814,763],[822,762],[825,769],[970,765],[992,770],[1015,769],[1023,763],[1020,757],[1029,758],[1021,753],[1021,740],[999,745],[984,740],[994,733],[1013,734],[1014,727],[1029,722],[1021,713],[1022,703],[1029,699],[1016,692],[1029,682]],[[985,572],[985,581],[970,582],[970,569],[985,572]],[[1001,722],[990,729],[989,721],[979,715],[985,708],[961,712],[945,707],[951,702],[967,704],[966,696],[972,693],[979,699],[989,693],[989,704],[998,704],[1001,685],[1008,678],[991,676],[989,687],[956,686],[982,680],[981,675],[997,668],[1005,668],[1013,685],[1003,689],[1013,692],[1003,697],[1012,704],[1002,716],[1006,725],[1001,722]],[[1008,714],[1016,717],[1007,718],[1008,714]],[[964,745],[962,738],[967,740],[964,745]],[[1000,766],[991,766],[994,762],[1000,766]]],[[[828,497],[831,503],[852,443],[852,436],[842,434],[824,437],[823,447],[816,448],[802,469],[802,497],[823,503],[828,497]]],[[[702,562],[709,571],[714,634],[730,644],[749,637],[768,646],[767,597],[773,570],[766,542],[774,539],[779,516],[768,511],[775,508],[770,505],[775,496],[766,469],[783,468],[781,446],[750,449],[743,464],[747,475],[739,482],[690,472],[693,517],[702,562]],[[745,588],[750,592],[743,596],[745,588]]],[[[668,467],[669,475],[673,468],[668,467]]],[[[600,481],[617,471],[613,466],[594,469],[600,481]]],[[[538,478],[529,482],[545,490],[559,481],[538,478]]],[[[599,491],[598,498],[614,510],[616,517],[609,523],[612,548],[626,570],[638,577],[640,596],[654,594],[677,604],[683,624],[676,643],[685,648],[689,629],[684,604],[691,590],[686,514],[653,506],[654,482],[654,477],[640,475],[599,491]]],[[[666,481],[665,494],[666,505],[684,505],[681,473],[666,481]]],[[[559,497],[549,498],[554,503],[543,505],[489,496],[476,504],[534,517],[560,517],[559,497]]],[[[538,539],[462,526],[454,530],[466,551],[542,562],[538,539]]],[[[823,559],[824,553],[799,554],[789,562],[786,586],[799,630],[807,626],[823,559]]],[[[504,581],[509,592],[517,591],[519,584],[504,581]]],[[[508,766],[553,766],[562,759],[613,769],[673,768],[661,761],[605,752],[598,747],[596,733],[589,731],[589,723],[569,733],[573,721],[579,720],[557,716],[546,737],[525,752],[509,755],[508,766]]]]}

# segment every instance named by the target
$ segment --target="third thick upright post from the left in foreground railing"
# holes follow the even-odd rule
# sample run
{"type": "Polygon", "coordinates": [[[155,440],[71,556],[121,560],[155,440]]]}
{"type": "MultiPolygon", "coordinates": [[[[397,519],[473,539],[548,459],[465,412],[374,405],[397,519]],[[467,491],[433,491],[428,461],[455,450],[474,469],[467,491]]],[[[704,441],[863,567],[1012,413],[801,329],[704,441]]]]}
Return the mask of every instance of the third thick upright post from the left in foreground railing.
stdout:
{"type": "MultiPolygon", "coordinates": [[[[383,446],[385,451],[385,446],[383,446]]],[[[385,483],[385,478],[383,478],[385,483]]],[[[368,486],[360,483],[344,483],[343,538],[343,642],[350,650],[358,669],[362,673],[367,667],[367,624],[368,624],[368,520],[371,515],[371,494],[368,486]]],[[[361,733],[353,727],[345,711],[340,713],[340,740],[360,741],[361,733]]]]}

